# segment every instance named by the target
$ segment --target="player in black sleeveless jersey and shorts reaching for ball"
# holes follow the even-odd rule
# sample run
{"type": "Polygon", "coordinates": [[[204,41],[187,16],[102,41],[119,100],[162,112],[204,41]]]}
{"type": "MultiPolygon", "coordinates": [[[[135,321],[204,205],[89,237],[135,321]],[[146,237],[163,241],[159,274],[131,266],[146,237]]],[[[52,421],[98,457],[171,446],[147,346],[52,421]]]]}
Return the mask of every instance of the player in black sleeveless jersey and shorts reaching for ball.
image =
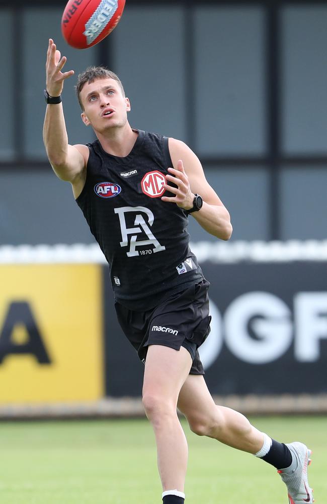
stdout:
{"type": "Polygon", "coordinates": [[[50,39],[44,143],[108,260],[119,322],[145,364],[143,404],[156,438],[163,504],[185,499],[188,448],[177,407],[197,434],[275,466],[291,504],[313,502],[307,447],[278,443],[240,413],[215,405],[203,378],[197,349],[209,333],[209,284],[189,249],[187,218],[223,240],[232,227],[200,161],[179,140],[132,129],[123,86],[103,67],[79,75],[76,86],[81,118],[97,140],[69,145],[60,95],[73,71],[61,72],[65,62],[50,39]]]}

